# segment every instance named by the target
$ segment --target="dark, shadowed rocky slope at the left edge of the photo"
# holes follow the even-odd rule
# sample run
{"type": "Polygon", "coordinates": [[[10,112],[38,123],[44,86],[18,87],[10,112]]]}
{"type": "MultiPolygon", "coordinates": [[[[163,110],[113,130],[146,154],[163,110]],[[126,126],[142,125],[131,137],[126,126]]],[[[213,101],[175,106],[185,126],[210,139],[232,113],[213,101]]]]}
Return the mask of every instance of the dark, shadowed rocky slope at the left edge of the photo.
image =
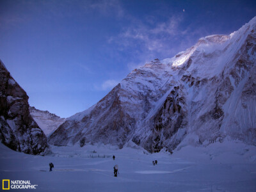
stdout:
{"type": "Polygon", "coordinates": [[[28,95],[0,61],[0,139],[7,147],[26,154],[44,154],[44,132],[29,114],[28,95]]]}

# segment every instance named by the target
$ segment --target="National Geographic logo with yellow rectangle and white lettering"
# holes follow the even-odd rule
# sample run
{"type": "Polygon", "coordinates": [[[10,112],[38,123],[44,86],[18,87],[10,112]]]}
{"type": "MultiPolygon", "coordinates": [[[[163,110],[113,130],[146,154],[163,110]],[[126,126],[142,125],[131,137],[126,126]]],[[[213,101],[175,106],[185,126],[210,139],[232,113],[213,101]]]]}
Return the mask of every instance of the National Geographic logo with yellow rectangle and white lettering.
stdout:
{"type": "Polygon", "coordinates": [[[30,180],[3,179],[3,190],[8,189],[36,189],[38,185],[32,185],[30,180]],[[11,185],[10,185],[11,183],[11,185]]]}

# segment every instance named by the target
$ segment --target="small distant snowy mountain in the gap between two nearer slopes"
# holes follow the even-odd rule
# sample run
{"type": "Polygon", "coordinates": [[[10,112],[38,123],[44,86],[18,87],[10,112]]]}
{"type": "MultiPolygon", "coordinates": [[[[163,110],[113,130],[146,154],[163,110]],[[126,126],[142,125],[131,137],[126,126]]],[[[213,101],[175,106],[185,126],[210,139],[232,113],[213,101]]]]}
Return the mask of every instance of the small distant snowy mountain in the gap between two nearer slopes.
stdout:
{"type": "Polygon", "coordinates": [[[60,118],[49,111],[40,111],[35,107],[29,107],[29,112],[47,137],[65,122],[65,118],[60,118]]]}

